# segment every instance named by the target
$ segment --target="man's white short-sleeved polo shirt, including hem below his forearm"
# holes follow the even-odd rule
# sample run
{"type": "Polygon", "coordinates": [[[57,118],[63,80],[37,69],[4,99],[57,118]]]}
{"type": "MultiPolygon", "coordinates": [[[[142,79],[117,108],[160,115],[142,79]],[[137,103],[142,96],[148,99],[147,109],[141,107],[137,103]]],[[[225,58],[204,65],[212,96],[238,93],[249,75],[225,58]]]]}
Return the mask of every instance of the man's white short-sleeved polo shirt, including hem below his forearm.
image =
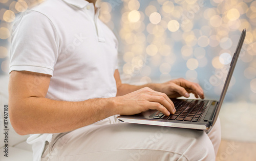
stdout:
{"type": "MultiPolygon", "coordinates": [[[[13,25],[9,72],[52,75],[46,97],[54,100],[116,96],[117,39],[98,15],[84,0],[46,0],[25,12],[13,25]]],[[[34,160],[51,137],[28,139],[34,160]]]]}

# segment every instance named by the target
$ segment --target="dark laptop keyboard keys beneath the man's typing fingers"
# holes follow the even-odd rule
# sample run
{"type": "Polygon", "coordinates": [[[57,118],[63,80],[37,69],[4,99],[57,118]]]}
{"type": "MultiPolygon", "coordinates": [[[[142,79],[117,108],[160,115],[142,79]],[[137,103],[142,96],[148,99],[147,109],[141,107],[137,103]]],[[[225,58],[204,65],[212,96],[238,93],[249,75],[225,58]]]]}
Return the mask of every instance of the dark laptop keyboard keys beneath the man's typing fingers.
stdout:
{"type": "Polygon", "coordinates": [[[172,99],[176,112],[174,115],[165,116],[161,112],[157,112],[153,119],[179,120],[196,122],[202,115],[208,100],[197,99],[172,99]]]}

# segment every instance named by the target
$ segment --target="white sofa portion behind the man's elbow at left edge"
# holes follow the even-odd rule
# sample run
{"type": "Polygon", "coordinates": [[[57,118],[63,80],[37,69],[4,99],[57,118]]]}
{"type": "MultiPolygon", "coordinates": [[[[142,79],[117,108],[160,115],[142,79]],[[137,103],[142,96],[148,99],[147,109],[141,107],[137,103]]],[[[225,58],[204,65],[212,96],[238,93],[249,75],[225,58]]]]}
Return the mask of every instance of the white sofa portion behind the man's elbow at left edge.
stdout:
{"type": "Polygon", "coordinates": [[[5,153],[4,135],[4,104],[8,103],[8,75],[0,75],[0,160],[1,161],[32,161],[32,146],[26,143],[29,136],[18,135],[8,119],[8,157],[5,153]]]}

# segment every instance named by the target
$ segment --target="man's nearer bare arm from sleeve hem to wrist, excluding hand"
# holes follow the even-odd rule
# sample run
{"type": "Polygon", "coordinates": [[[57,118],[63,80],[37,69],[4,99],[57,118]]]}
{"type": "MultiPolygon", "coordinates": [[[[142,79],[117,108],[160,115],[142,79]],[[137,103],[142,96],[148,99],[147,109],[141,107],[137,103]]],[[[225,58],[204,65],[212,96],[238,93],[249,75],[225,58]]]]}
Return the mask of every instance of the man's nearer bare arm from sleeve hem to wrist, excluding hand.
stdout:
{"type": "Polygon", "coordinates": [[[68,102],[45,98],[50,79],[46,74],[11,72],[9,113],[20,135],[70,131],[115,114],[111,101],[105,99],[68,102]]]}

